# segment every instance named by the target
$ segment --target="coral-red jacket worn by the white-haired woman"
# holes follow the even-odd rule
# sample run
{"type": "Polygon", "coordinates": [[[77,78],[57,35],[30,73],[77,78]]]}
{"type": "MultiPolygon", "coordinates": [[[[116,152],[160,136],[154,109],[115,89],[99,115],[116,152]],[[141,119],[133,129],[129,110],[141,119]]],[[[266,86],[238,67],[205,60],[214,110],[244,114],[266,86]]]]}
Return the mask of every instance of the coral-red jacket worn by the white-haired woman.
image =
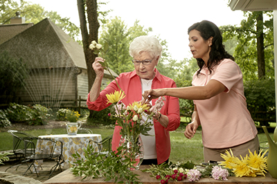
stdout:
{"type": "MultiPolygon", "coordinates": [[[[174,80],[161,75],[157,68],[154,69],[156,75],[152,80],[152,89],[161,88],[172,88],[176,87],[174,80]]],[[[125,92],[125,98],[123,98],[123,103],[127,106],[132,104],[134,101],[142,100],[142,88],[141,88],[141,78],[136,75],[136,71],[121,73],[116,77],[120,88],[125,92]]],[[[100,95],[95,102],[89,101],[89,95],[87,98],[87,105],[89,109],[93,111],[101,111],[106,107],[109,107],[111,103],[107,104],[106,94],[114,93],[114,91],[119,91],[120,89],[113,80],[104,90],[100,92],[100,95]]],[[[180,125],[180,112],[179,112],[179,99],[175,97],[165,96],[166,101],[161,109],[163,115],[168,116],[168,127],[165,128],[161,126],[159,122],[154,120],[154,129],[156,136],[156,149],[157,149],[157,160],[158,164],[163,163],[168,160],[170,156],[170,134],[169,131],[175,131],[180,125]]],[[[152,105],[155,104],[157,99],[152,100],[152,105]]],[[[120,127],[116,126],[114,129],[114,136],[111,141],[111,148],[116,151],[116,147],[119,145],[120,140],[120,127]]]]}

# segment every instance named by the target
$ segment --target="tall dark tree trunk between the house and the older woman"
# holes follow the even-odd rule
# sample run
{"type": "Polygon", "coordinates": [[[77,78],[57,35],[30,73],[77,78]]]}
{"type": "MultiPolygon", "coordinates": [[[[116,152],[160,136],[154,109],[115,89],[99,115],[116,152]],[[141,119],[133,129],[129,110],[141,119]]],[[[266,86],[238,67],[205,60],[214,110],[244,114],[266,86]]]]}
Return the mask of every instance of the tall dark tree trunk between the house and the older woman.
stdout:
{"type": "MultiPolygon", "coordinates": [[[[84,49],[84,57],[87,64],[87,77],[89,81],[89,89],[96,78],[96,73],[93,71],[92,64],[97,55],[93,54],[93,51],[89,48],[89,44],[93,40],[98,42],[98,28],[100,27],[98,22],[98,13],[97,13],[97,1],[96,0],[77,0],[78,11],[80,17],[80,28],[82,33],[82,47],[84,49]],[[89,21],[89,33],[87,31],[87,20],[84,10],[84,2],[87,2],[87,20],[89,21]]],[[[91,118],[93,111],[90,111],[89,117],[91,118]]]]}

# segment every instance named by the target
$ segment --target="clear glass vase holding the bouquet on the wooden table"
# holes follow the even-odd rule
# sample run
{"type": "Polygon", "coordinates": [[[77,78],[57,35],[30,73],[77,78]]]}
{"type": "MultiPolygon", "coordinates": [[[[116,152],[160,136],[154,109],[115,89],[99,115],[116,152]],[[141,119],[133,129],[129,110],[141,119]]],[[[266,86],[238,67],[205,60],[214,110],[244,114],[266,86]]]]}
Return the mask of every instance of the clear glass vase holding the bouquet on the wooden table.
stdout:
{"type": "Polygon", "coordinates": [[[134,136],[121,136],[119,146],[123,147],[121,153],[123,156],[123,163],[130,165],[129,169],[131,170],[139,169],[144,156],[141,136],[136,138],[134,138],[134,136]]]}

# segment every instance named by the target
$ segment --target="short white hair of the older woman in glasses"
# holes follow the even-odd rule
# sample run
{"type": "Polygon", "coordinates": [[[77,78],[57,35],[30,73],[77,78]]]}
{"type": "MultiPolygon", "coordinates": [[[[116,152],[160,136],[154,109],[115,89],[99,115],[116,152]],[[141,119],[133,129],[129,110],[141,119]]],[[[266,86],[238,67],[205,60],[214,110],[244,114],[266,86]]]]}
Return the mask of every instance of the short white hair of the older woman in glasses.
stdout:
{"type": "Polygon", "coordinates": [[[148,52],[152,57],[161,57],[163,47],[156,37],[140,36],[136,37],[129,46],[129,55],[132,57],[140,55],[141,52],[148,52]]]}

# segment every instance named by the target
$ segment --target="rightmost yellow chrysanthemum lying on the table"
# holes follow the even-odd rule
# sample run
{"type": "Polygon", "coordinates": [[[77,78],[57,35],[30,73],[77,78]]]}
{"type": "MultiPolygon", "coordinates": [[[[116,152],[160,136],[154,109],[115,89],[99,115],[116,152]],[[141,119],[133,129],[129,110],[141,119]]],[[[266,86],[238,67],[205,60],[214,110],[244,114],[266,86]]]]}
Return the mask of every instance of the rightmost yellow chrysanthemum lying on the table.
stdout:
{"type": "Polygon", "coordinates": [[[265,154],[267,151],[265,151],[262,154],[262,150],[260,150],[260,153],[257,154],[256,151],[254,151],[254,154],[249,150],[249,157],[247,160],[247,163],[250,167],[255,169],[255,174],[265,176],[265,173],[267,173],[265,170],[267,169],[267,157],[265,154]]]}

